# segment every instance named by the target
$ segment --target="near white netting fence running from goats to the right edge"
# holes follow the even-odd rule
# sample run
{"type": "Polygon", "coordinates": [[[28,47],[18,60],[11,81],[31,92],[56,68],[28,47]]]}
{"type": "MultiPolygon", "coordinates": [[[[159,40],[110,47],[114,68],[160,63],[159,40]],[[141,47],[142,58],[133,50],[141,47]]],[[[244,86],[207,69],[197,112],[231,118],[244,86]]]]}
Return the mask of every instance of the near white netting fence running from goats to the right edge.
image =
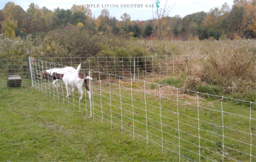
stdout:
{"type": "Polygon", "coordinates": [[[65,64],[30,58],[33,86],[93,119],[108,121],[110,129],[120,127],[120,134],[127,131],[149,147],[159,145],[159,151],[179,161],[256,160],[255,102],[156,84],[145,81],[145,75],[111,74],[110,66],[106,72],[81,68],[93,81],[91,100],[86,93],[79,100],[76,89],[66,97],[63,82],[57,88],[50,75],[42,78],[43,71],[65,64]]]}

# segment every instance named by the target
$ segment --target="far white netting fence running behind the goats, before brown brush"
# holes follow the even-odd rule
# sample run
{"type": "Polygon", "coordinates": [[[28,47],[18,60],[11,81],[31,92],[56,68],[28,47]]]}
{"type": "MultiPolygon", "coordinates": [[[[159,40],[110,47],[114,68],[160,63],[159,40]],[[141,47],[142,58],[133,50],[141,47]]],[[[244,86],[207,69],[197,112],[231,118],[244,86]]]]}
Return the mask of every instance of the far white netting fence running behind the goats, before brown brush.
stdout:
{"type": "MultiPolygon", "coordinates": [[[[172,55],[142,57],[45,57],[35,58],[51,63],[114,74],[134,79],[147,80],[152,77],[169,77],[180,75],[188,70],[188,63],[203,55],[172,55]]],[[[114,77],[115,77],[114,76],[114,77]]],[[[102,78],[104,74],[101,76],[102,78]]],[[[115,77],[115,80],[117,78],[115,77]]]]}

